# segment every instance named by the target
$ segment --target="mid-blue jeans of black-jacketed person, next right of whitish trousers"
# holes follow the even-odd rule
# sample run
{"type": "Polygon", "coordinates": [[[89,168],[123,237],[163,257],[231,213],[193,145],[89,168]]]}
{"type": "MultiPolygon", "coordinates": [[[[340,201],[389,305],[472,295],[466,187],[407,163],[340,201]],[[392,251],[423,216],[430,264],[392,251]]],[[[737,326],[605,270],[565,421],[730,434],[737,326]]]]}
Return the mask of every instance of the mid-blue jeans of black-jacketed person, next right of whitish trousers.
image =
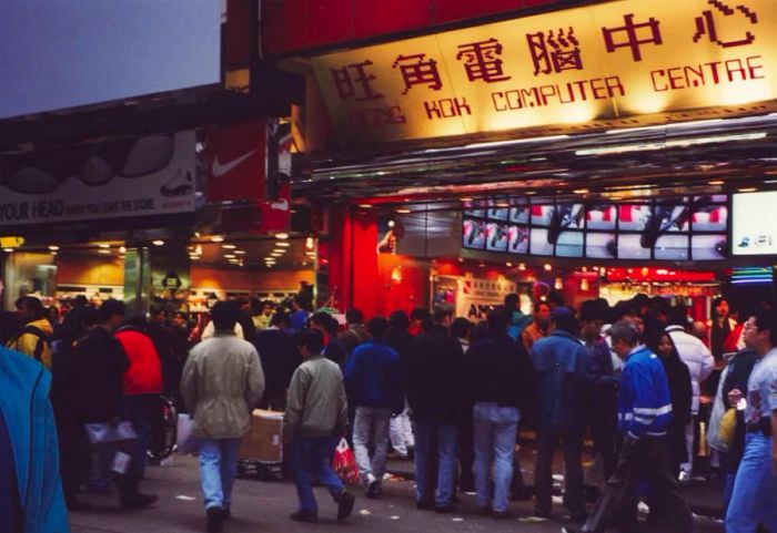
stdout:
{"type": "Polygon", "coordinates": [[[437,489],[434,503],[445,508],[453,503],[453,490],[456,483],[456,427],[433,422],[415,422],[415,500],[432,501],[434,455],[437,455],[437,489]],[[434,441],[437,449],[433,449],[434,441]]]}

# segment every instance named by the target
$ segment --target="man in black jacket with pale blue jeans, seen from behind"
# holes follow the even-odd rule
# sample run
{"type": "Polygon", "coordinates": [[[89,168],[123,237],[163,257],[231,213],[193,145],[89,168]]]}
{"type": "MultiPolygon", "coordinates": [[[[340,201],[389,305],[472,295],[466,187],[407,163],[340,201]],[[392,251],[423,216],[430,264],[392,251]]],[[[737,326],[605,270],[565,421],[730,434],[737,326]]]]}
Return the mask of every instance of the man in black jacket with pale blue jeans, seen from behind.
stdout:
{"type": "Polygon", "coordinates": [[[508,516],[513,455],[521,419],[532,398],[534,367],[523,345],[507,334],[507,315],[488,315],[488,337],[465,356],[467,399],[474,403],[475,489],[481,512],[508,516]],[[492,464],[494,471],[493,498],[492,464]]]}

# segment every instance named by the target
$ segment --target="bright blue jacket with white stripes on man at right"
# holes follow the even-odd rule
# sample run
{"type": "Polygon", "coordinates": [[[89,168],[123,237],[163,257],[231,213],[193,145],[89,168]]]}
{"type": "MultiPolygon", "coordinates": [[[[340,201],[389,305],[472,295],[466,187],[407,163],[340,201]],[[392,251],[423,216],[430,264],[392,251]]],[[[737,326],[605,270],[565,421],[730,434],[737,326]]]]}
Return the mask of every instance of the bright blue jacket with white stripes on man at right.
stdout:
{"type": "Polygon", "coordinates": [[[639,439],[666,434],[672,420],[672,398],[658,356],[638,346],[626,358],[618,392],[618,428],[639,439]]]}

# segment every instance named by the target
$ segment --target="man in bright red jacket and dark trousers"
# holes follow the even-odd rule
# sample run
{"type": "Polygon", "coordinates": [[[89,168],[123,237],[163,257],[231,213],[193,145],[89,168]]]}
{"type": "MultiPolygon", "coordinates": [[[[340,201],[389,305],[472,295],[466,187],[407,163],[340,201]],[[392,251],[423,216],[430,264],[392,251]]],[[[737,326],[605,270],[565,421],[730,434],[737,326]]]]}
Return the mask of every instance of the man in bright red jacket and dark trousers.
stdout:
{"type": "MultiPolygon", "coordinates": [[[[132,422],[138,433],[132,459],[122,483],[127,490],[137,493],[138,484],[145,474],[145,460],[149,448],[149,418],[159,393],[162,391],[162,365],[153,341],[144,332],[141,320],[131,320],[115,332],[115,338],[127,352],[130,366],[124,372],[124,398],[122,412],[132,422]]],[[[120,484],[120,490],[122,489],[120,484]]],[[[157,496],[143,495],[145,500],[157,496]]]]}

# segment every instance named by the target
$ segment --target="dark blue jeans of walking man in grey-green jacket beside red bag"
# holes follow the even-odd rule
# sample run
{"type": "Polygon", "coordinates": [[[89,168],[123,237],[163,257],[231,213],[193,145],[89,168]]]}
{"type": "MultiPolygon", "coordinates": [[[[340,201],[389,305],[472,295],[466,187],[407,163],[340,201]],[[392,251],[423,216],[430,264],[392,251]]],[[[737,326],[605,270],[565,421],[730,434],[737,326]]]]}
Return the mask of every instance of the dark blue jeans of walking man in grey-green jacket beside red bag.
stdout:
{"type": "Polygon", "coordinates": [[[300,510],[319,512],[319,504],[313,495],[313,480],[319,480],[329,489],[337,501],[345,485],[332,470],[334,449],[340,439],[332,437],[295,435],[291,443],[291,468],[300,499],[300,510]]]}

